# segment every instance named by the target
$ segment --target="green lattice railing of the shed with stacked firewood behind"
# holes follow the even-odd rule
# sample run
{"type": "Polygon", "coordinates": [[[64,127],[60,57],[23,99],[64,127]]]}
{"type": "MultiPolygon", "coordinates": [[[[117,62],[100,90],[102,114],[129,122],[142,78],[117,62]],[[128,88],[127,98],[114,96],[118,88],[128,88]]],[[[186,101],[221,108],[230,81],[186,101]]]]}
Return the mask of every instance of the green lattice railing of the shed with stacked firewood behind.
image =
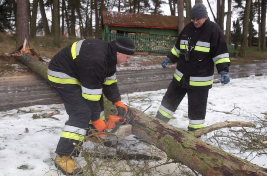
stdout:
{"type": "Polygon", "coordinates": [[[173,36],[160,36],[160,35],[138,35],[138,34],[110,34],[110,41],[118,37],[126,36],[134,41],[135,51],[139,52],[156,52],[168,53],[177,41],[173,36]]]}

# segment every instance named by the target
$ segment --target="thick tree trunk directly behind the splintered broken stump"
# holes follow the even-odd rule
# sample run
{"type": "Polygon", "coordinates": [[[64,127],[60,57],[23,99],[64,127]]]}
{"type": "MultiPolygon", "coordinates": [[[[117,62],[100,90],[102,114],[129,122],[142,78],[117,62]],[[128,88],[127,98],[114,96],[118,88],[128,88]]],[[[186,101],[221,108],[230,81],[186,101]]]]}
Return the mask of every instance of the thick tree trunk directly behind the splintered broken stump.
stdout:
{"type": "Polygon", "coordinates": [[[29,45],[29,1],[17,0],[16,50],[23,44],[24,39],[29,45]]]}

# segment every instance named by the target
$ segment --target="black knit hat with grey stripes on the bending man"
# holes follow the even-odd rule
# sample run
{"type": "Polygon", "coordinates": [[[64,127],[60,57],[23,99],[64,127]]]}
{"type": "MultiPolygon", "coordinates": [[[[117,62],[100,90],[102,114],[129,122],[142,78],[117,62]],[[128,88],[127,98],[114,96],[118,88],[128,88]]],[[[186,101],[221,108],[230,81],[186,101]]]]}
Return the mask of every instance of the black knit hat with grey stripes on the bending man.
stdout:
{"type": "Polygon", "coordinates": [[[133,55],[134,42],[127,37],[119,37],[116,40],[116,51],[127,55],[133,55]]]}

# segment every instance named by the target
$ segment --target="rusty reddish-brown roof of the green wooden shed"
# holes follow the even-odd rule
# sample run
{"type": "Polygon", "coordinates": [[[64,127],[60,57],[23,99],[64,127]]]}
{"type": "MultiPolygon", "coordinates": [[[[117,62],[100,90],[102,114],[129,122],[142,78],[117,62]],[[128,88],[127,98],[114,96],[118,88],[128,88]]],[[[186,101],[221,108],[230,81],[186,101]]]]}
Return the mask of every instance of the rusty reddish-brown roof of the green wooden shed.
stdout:
{"type": "MultiPolygon", "coordinates": [[[[138,28],[178,29],[178,17],[103,11],[103,25],[138,28]]],[[[184,18],[185,25],[190,20],[184,18]]]]}

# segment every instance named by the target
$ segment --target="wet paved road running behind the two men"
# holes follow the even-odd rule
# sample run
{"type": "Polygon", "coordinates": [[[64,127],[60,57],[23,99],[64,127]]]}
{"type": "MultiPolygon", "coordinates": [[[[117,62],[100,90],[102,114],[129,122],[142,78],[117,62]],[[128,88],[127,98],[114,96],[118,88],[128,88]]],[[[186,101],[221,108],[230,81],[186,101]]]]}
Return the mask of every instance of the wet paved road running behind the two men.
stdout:
{"type": "MultiPolygon", "coordinates": [[[[174,71],[174,68],[118,71],[116,75],[120,93],[165,89],[172,80],[174,71]]],[[[267,75],[267,62],[232,64],[230,67],[231,78],[250,75],[267,75]]],[[[214,78],[214,82],[219,82],[220,76],[216,70],[214,78]]],[[[0,111],[53,103],[61,103],[61,100],[39,75],[0,78],[0,111]]]]}

